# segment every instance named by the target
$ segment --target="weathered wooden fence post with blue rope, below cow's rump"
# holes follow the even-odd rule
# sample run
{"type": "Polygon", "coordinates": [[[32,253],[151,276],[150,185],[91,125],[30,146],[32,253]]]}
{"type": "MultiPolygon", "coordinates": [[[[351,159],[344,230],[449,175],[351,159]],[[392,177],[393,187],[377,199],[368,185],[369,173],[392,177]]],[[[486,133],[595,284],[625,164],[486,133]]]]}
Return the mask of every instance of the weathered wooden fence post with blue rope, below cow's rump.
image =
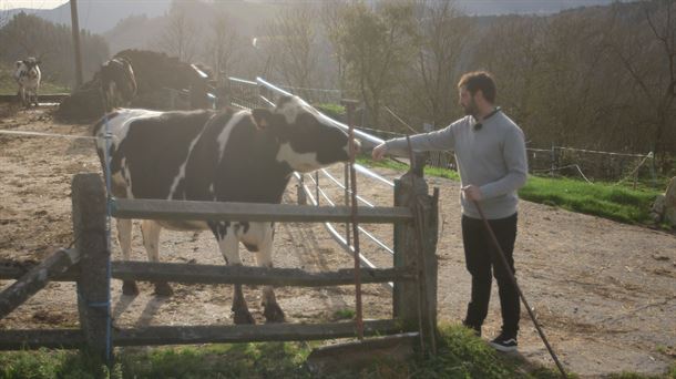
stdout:
{"type": "Polygon", "coordinates": [[[78,174],[72,182],[73,234],[80,253],[78,310],[86,349],[110,362],[110,247],[105,232],[106,198],[99,174],[78,174]]]}

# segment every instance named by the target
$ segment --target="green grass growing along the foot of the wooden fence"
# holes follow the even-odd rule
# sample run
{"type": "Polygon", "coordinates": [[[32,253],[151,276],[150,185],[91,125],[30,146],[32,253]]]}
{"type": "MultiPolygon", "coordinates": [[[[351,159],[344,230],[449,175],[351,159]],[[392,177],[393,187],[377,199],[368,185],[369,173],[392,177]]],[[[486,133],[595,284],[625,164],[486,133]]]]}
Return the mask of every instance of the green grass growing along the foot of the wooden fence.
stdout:
{"type": "MultiPolygon", "coordinates": [[[[457,325],[440,328],[439,354],[407,361],[376,361],[366,368],[345,365],[328,378],[555,378],[547,368],[496,354],[457,325]]],[[[126,348],[112,372],[76,351],[38,350],[0,354],[0,378],[311,378],[305,342],[126,348]]]]}

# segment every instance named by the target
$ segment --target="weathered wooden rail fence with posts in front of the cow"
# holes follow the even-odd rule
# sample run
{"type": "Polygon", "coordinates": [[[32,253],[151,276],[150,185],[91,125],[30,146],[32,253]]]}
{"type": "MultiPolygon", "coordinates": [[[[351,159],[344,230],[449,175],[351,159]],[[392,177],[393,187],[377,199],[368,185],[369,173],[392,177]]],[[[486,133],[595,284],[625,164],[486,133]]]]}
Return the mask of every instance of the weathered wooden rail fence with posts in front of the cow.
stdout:
{"type": "MultiPolygon", "coordinates": [[[[352,321],[233,326],[154,326],[111,328],[110,283],[114,279],[166,280],[186,284],[246,284],[274,286],[339,286],[355,283],[354,269],[307,273],[296,268],[263,268],[147,262],[110,262],[106,240],[106,198],[98,174],[78,174],[72,182],[75,248],[58,250],[27,270],[0,266],[0,279],[17,281],[0,293],[0,319],[43,288],[50,280],[74,280],[80,328],[0,330],[0,349],[86,348],[105,356],[107,334],[112,346],[151,346],[204,342],[315,340],[356,337],[352,321]]],[[[392,318],[366,320],[365,336],[419,331],[422,346],[433,340],[437,325],[438,191],[412,172],[396,182],[395,206],[359,208],[360,223],[395,224],[392,268],[361,268],[362,283],[395,283],[392,318]]],[[[113,199],[113,216],[125,218],[342,222],[347,206],[317,207],[287,204],[243,204],[155,199],[113,199]]]]}

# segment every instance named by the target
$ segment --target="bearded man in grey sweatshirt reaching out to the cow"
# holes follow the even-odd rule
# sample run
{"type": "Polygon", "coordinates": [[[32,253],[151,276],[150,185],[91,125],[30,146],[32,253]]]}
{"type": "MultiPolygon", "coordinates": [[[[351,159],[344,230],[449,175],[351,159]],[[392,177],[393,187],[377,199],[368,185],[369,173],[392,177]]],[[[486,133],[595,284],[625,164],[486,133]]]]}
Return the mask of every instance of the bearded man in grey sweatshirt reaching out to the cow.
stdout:
{"type": "MultiPolygon", "coordinates": [[[[488,72],[470,72],[458,83],[460,105],[465,116],[445,129],[410,137],[414,151],[453,150],[460,170],[462,242],[467,269],[472,276],[472,295],[463,324],[481,336],[491,295],[491,269],[498,280],[502,310],[502,332],[491,341],[501,351],[516,349],[520,303],[474,205],[489,219],[514,273],[516,238],[516,190],[525,184],[528,161],[523,132],[494,104],[495,83],[488,72]]],[[[386,141],[373,148],[373,160],[385,154],[406,155],[406,139],[386,141]]]]}

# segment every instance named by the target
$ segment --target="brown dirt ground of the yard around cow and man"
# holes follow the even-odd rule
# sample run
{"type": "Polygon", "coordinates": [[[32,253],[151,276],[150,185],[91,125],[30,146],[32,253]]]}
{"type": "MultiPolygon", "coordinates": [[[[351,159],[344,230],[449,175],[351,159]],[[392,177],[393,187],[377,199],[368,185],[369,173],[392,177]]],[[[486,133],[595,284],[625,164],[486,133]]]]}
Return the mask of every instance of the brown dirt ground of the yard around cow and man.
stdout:
{"type": "MultiPolygon", "coordinates": [[[[18,113],[0,105],[0,130],[89,135],[89,125],[60,124],[53,107],[18,113]]],[[[378,170],[386,177],[401,173],[378,170]]],[[[0,134],[0,263],[40,260],[50,247],[72,242],[70,182],[73,174],[100,172],[91,140],[14,136],[0,134]]],[[[342,168],[331,170],[342,177],[342,168]]],[[[387,185],[359,180],[358,192],[377,205],[392,204],[387,185]]],[[[458,183],[429,178],[441,191],[439,232],[439,318],[458,322],[469,297],[460,235],[458,183]]],[[[326,178],[321,180],[327,184],[326,178]]],[[[294,183],[291,183],[294,184],[294,183]]],[[[295,202],[289,185],[285,202],[295,202]]],[[[335,202],[341,201],[338,192],[335,202]]],[[[322,204],[326,204],[322,201],[322,204]]],[[[391,246],[391,226],[365,225],[391,246]]],[[[518,277],[529,303],[563,365],[583,377],[624,370],[659,373],[676,358],[676,236],[645,227],[522,202],[515,249],[518,277]]],[[[339,227],[341,229],[341,227],[339,227]]],[[[379,267],[391,266],[391,256],[361,238],[362,252],[379,267]]],[[[145,259],[139,228],[134,231],[133,259],[145,259]]],[[[209,233],[162,234],[163,262],[222,264],[209,233]]],[[[114,242],[114,258],[120,250],[114,242]]],[[[253,256],[243,249],[245,264],[253,256]]],[[[275,265],[329,270],[352,266],[322,225],[278,224],[275,265]]],[[[0,290],[11,285],[0,280],[0,290]]],[[[231,324],[229,286],[173,285],[171,298],[155,297],[150,284],[141,295],[121,295],[113,281],[116,326],[231,324]]],[[[259,291],[246,291],[257,321],[259,291]]],[[[277,297],[291,322],[336,320],[354,307],[351,287],[279,288],[277,297]]],[[[500,308],[493,290],[484,338],[499,332],[500,308]]],[[[381,285],[363,290],[365,317],[391,315],[391,295],[381,285]]],[[[78,325],[74,285],[53,283],[4,319],[0,328],[55,328],[78,325]]],[[[528,314],[522,314],[520,354],[534,362],[552,365],[528,314]]]]}

